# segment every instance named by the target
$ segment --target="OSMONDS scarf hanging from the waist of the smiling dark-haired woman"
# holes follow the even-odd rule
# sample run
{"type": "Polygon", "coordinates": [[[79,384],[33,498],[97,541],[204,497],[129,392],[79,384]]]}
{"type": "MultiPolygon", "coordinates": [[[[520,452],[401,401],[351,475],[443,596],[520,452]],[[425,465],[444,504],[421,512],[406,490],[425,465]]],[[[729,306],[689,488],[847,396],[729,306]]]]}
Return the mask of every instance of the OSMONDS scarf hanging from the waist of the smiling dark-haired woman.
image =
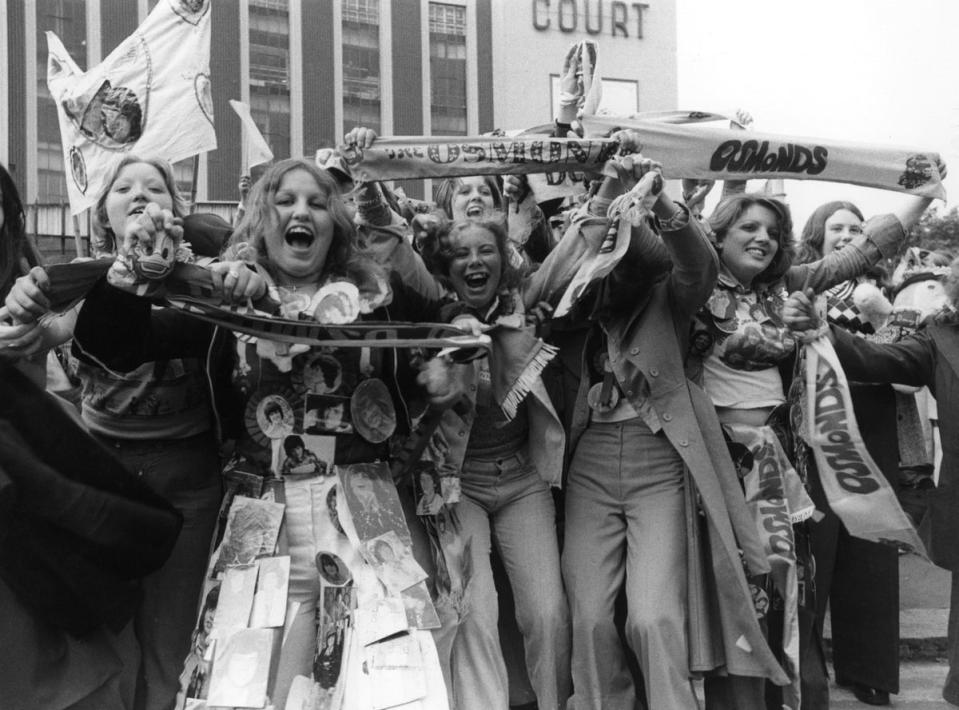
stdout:
{"type": "Polygon", "coordinates": [[[772,427],[733,424],[726,426],[726,431],[733,441],[745,446],[752,454],[752,466],[743,481],[746,505],[756,521],[756,530],[772,570],[770,576],[784,605],[783,669],[791,682],[787,688],[783,688],[783,707],[799,710],[802,697],[799,675],[799,579],[793,523],[812,514],[812,501],[805,495],[799,475],[789,463],[772,427]],[[796,483],[798,491],[802,491],[798,498],[796,483]]]}

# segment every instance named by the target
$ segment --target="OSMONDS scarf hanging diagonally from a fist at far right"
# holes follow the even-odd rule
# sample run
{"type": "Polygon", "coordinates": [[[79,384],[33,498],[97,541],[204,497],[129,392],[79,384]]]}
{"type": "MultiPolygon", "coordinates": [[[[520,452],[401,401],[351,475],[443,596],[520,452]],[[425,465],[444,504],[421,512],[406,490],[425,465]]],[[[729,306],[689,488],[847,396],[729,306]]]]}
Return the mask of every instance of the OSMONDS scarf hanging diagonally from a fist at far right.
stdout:
{"type": "Polygon", "coordinates": [[[850,535],[927,557],[896,494],[866,450],[846,374],[832,344],[805,346],[808,440],[829,507],[850,535]]]}

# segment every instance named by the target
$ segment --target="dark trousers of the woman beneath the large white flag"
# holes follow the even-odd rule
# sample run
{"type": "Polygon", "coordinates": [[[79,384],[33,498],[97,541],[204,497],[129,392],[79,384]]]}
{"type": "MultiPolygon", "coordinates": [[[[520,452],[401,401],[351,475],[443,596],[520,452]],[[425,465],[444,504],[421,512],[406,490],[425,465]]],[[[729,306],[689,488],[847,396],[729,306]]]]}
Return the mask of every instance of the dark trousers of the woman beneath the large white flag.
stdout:
{"type": "Polygon", "coordinates": [[[183,528],[169,559],[143,580],[143,600],[132,622],[139,665],[126,659],[124,666],[124,675],[136,678],[137,710],[168,710],[190,649],[222,497],[216,439],[212,434],[142,441],[97,438],[183,514],[183,528]]]}

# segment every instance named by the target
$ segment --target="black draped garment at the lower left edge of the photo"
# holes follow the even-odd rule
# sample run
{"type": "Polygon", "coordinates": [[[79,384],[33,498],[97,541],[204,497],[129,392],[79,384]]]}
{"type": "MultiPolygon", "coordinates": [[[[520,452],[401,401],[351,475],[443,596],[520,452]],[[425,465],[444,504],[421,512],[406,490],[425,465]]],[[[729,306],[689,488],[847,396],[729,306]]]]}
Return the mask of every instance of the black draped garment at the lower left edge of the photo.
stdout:
{"type": "Polygon", "coordinates": [[[0,577],[76,635],[121,629],[182,518],[64,407],[0,361],[0,577]]]}

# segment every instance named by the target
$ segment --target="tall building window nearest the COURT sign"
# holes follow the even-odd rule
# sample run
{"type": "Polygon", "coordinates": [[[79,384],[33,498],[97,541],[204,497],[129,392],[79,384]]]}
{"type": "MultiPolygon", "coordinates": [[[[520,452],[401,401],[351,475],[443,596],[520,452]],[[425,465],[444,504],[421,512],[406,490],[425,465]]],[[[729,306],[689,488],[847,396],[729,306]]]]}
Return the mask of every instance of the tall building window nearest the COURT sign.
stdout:
{"type": "Polygon", "coordinates": [[[433,135],[466,135],[466,8],[430,3],[433,135]]]}

